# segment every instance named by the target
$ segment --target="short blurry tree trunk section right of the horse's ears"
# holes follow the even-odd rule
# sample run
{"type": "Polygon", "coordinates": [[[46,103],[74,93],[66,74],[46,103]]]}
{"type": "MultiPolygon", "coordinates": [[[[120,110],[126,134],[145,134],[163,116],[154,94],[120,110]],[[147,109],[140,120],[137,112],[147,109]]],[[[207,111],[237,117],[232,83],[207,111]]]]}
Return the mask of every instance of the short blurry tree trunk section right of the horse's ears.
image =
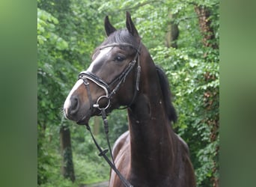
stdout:
{"type": "Polygon", "coordinates": [[[176,14],[169,13],[169,19],[171,20],[168,24],[168,31],[165,35],[165,46],[173,47],[177,49],[177,39],[179,37],[180,31],[174,19],[176,18],[176,14]]]}

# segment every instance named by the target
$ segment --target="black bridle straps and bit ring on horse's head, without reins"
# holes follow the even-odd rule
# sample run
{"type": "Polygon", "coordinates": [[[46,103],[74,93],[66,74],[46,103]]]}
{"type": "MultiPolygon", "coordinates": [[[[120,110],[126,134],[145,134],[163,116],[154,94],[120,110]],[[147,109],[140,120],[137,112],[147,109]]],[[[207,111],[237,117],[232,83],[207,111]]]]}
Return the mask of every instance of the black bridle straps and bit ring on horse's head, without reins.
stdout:
{"type": "MultiPolygon", "coordinates": [[[[139,61],[139,55],[140,55],[140,49],[141,49],[141,43],[139,43],[138,48],[136,48],[135,46],[132,46],[129,43],[111,43],[108,44],[106,46],[102,46],[100,49],[105,49],[107,47],[113,47],[113,46],[130,46],[133,49],[135,49],[136,55],[135,58],[129,62],[128,66],[123,70],[123,72],[116,78],[114,79],[109,85],[103,81],[103,79],[100,79],[100,77],[96,76],[94,73],[91,73],[90,71],[82,71],[81,73],[79,73],[79,79],[82,79],[85,87],[88,91],[88,98],[90,100],[90,110],[94,107],[94,108],[98,108],[100,111],[102,109],[107,109],[109,108],[110,100],[112,99],[112,96],[119,90],[122,82],[125,81],[126,77],[128,76],[129,72],[132,70],[132,68],[135,66],[135,64],[138,62],[138,67],[137,67],[137,77],[136,77],[136,85],[135,85],[135,93],[133,94],[132,97],[132,101],[129,103],[129,105],[132,104],[132,102],[135,99],[135,95],[137,93],[137,91],[139,90],[139,79],[140,79],[140,73],[141,73],[141,66],[140,66],[140,61],[139,61]],[[100,96],[97,99],[97,102],[95,104],[93,104],[92,99],[91,99],[91,93],[89,90],[89,83],[88,80],[91,80],[92,82],[94,82],[97,86],[99,86],[100,88],[103,89],[103,91],[105,91],[106,95],[100,96]],[[110,90],[110,86],[116,84],[115,88],[112,89],[112,91],[110,90]],[[100,99],[107,99],[108,102],[106,104],[105,107],[100,107],[100,99]]],[[[127,107],[129,107],[129,105],[127,105],[127,107]]],[[[125,108],[127,108],[125,107],[125,108]]]]}

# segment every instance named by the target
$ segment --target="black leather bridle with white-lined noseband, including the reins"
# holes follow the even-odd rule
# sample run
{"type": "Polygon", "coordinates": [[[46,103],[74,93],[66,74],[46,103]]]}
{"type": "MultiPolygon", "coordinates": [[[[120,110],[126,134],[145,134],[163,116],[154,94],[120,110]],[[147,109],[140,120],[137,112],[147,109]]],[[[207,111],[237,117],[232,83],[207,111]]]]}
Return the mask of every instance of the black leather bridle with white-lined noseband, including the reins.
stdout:
{"type": "MultiPolygon", "coordinates": [[[[118,177],[120,178],[120,180],[124,184],[124,186],[132,187],[132,185],[129,183],[129,181],[127,181],[123,177],[123,175],[120,173],[120,171],[118,171],[118,169],[115,167],[115,162],[114,162],[114,159],[113,159],[113,156],[112,156],[112,149],[111,149],[111,146],[109,144],[109,125],[108,125],[108,120],[106,119],[106,109],[108,109],[109,106],[111,105],[112,96],[114,96],[115,93],[117,93],[117,91],[121,87],[121,84],[125,82],[125,79],[127,78],[128,74],[131,72],[133,67],[135,67],[135,64],[137,64],[137,75],[136,75],[136,82],[135,82],[135,90],[134,90],[131,102],[129,103],[129,105],[127,105],[124,108],[128,108],[130,105],[132,105],[132,102],[134,102],[135,96],[137,95],[137,92],[139,91],[139,80],[140,80],[140,75],[141,75],[141,66],[140,66],[140,60],[139,60],[139,55],[141,54],[141,52],[140,52],[141,42],[139,43],[138,48],[133,46],[132,44],[129,44],[129,43],[111,43],[111,44],[107,44],[105,46],[102,46],[100,49],[105,49],[107,47],[114,47],[114,46],[129,46],[129,47],[132,47],[133,49],[136,50],[135,58],[133,58],[133,60],[129,62],[128,66],[122,71],[122,73],[120,73],[120,75],[116,79],[114,79],[108,85],[106,82],[103,81],[103,79],[100,79],[100,77],[96,76],[94,73],[91,73],[90,71],[82,71],[81,73],[79,73],[79,78],[78,79],[82,79],[82,81],[85,85],[86,91],[88,93],[88,99],[89,99],[89,102],[90,102],[89,111],[91,111],[93,108],[97,108],[97,109],[100,110],[100,114],[103,117],[106,140],[108,142],[110,155],[112,157],[112,162],[106,156],[106,153],[107,153],[108,150],[102,150],[101,149],[99,144],[97,144],[97,141],[94,138],[94,135],[91,132],[90,126],[88,124],[85,124],[86,128],[88,129],[88,131],[91,134],[91,137],[94,140],[94,144],[96,145],[97,149],[100,151],[99,156],[103,156],[103,158],[106,159],[106,162],[108,162],[108,164],[113,169],[113,171],[115,171],[115,173],[118,175],[118,177]],[[96,103],[93,103],[93,101],[92,101],[88,79],[91,80],[91,82],[94,82],[98,87],[102,88],[103,91],[105,91],[105,93],[106,93],[106,95],[99,96],[96,103]],[[115,87],[111,90],[110,88],[112,87],[112,85],[115,85],[115,87]],[[105,106],[100,107],[99,102],[100,102],[101,99],[107,99],[107,102],[106,102],[105,106]]],[[[124,108],[122,108],[122,109],[124,109],[124,108]]]]}

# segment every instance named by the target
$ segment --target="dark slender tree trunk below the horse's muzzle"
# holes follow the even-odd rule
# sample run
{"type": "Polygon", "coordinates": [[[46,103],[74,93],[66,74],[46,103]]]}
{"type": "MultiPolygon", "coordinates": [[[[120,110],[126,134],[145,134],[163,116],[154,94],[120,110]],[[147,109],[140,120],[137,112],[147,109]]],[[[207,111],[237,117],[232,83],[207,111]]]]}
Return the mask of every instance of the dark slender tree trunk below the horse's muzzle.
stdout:
{"type": "Polygon", "coordinates": [[[61,174],[64,176],[64,178],[70,179],[72,182],[74,182],[75,173],[73,167],[72,148],[70,141],[70,129],[67,126],[61,126],[60,138],[61,155],[63,156],[61,174]]]}

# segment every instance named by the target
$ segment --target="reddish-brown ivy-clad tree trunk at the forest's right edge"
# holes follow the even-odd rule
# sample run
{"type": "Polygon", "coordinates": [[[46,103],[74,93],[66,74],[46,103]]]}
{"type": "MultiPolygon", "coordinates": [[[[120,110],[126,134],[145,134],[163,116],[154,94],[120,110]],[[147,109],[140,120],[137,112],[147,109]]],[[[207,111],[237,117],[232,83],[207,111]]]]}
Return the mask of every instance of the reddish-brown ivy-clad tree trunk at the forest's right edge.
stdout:
{"type": "MultiPolygon", "coordinates": [[[[216,30],[214,29],[213,22],[216,21],[213,19],[213,10],[219,9],[219,3],[215,2],[215,4],[207,4],[207,6],[203,6],[201,4],[195,5],[195,12],[198,15],[198,22],[201,28],[201,34],[203,36],[203,44],[206,48],[210,48],[210,51],[219,50],[219,43],[216,39],[216,30]],[[213,9],[214,8],[214,9],[213,9]]],[[[210,55],[207,53],[204,54],[204,58],[206,61],[212,61],[210,55]]],[[[219,61],[218,61],[219,62],[219,61]]],[[[217,62],[217,63],[218,63],[217,62]]],[[[204,81],[207,83],[215,82],[216,75],[212,74],[210,71],[204,73],[204,81]]],[[[219,89],[207,88],[204,92],[204,105],[206,111],[216,111],[215,108],[219,108],[219,89]]],[[[219,138],[219,112],[216,114],[212,114],[210,117],[205,119],[205,123],[210,126],[210,142],[215,143],[218,142],[219,138]]],[[[219,157],[219,144],[215,146],[216,156],[213,158],[213,176],[211,177],[213,186],[219,186],[219,165],[218,165],[218,157],[219,157]]]]}

